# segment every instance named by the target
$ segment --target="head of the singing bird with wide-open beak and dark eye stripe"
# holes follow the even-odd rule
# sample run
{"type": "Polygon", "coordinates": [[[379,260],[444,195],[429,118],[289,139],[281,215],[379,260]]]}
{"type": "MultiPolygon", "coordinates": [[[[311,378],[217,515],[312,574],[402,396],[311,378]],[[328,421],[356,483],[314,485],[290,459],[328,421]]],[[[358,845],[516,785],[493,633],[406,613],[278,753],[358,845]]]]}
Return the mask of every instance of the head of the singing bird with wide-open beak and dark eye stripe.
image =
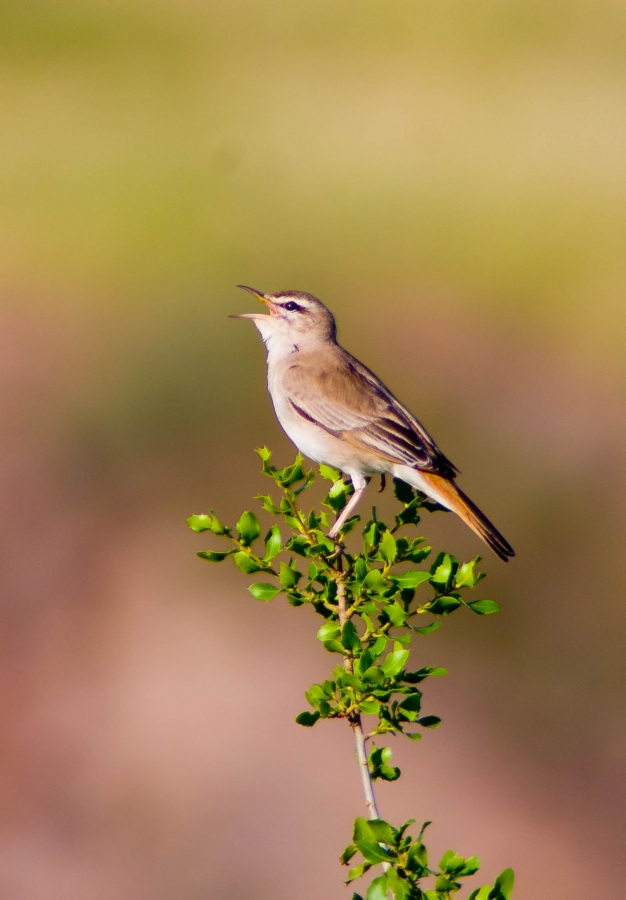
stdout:
{"type": "Polygon", "coordinates": [[[277,294],[263,294],[254,288],[239,284],[237,287],[249,291],[265,304],[265,313],[243,313],[236,319],[252,319],[261,337],[268,341],[290,342],[292,344],[312,344],[318,341],[334,341],[335,320],[330,310],[321,300],[302,291],[279,291],[277,294]]]}

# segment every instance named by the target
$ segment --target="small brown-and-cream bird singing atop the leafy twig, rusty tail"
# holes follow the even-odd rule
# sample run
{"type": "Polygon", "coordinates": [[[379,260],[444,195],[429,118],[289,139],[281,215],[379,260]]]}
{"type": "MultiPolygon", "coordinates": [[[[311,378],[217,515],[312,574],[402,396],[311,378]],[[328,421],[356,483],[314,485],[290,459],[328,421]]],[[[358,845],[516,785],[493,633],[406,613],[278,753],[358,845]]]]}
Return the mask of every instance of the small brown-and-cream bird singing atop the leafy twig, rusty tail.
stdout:
{"type": "Polygon", "coordinates": [[[336,539],[370,478],[392,475],[455,512],[505,562],[509,542],[456,483],[457,467],[383,382],[337,341],[330,310],[303,291],[257,297],[250,319],[267,349],[267,384],[278,421],[309,459],[348,475],[354,493],[333,524],[336,539]]]}

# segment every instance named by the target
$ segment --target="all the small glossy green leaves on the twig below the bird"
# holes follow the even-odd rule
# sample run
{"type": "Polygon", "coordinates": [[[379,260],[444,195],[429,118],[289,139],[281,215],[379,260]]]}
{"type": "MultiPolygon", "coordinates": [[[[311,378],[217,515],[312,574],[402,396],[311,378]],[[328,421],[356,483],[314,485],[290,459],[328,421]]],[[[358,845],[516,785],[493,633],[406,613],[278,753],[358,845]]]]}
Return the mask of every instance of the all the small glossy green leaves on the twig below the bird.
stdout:
{"type": "MultiPolygon", "coordinates": [[[[209,532],[220,538],[222,546],[226,544],[226,549],[203,550],[198,555],[213,563],[230,558],[241,572],[254,576],[248,590],[257,600],[266,602],[283,594],[292,606],[308,605],[322,618],[317,639],[337,664],[325,680],[305,692],[309,709],[296,717],[300,725],[346,719],[362,729],[366,720],[366,740],[398,734],[419,740],[425,729],[440,723],[438,716],[422,714],[422,683],[445,675],[446,670],[412,668],[411,644],[432,634],[457,610],[480,616],[498,611],[493,600],[474,598],[474,589],[485,577],[477,571],[480,557],[460,563],[450,553],[433,554],[425,538],[415,536],[415,526],[424,512],[440,507],[395,479],[393,490],[400,509],[393,524],[380,521],[372,510],[360,536],[350,537],[350,547],[345,538],[356,532],[357,515],[344,523],[338,540],[332,540],[328,537],[329,516],[344,508],[352,485],[339,472],[322,465],[320,475],[330,482],[323,508],[303,509],[302,495],[313,484],[315,474],[304,468],[302,457],[298,455],[292,465],[278,469],[267,448],[257,453],[272,488],[256,499],[274,521],[262,537],[259,519],[249,510],[234,528],[213,512],[191,516],[187,520],[190,528],[209,532]]],[[[373,744],[367,769],[371,781],[400,777],[400,769],[391,765],[389,747],[373,744]]],[[[449,851],[438,870],[429,869],[422,841],[424,828],[413,841],[406,834],[410,824],[394,829],[381,819],[356,820],[353,843],[342,861],[348,864],[359,853],[362,862],[350,871],[348,880],[362,876],[372,865],[385,867],[372,881],[367,900],[389,895],[397,900],[446,898],[459,889],[460,878],[478,868],[474,857],[463,859],[449,851]],[[434,877],[434,889],[418,886],[425,877],[434,877]]],[[[505,879],[500,886],[496,882],[493,888],[474,891],[470,900],[508,900],[511,889],[512,880],[505,879]]],[[[357,894],[354,897],[358,900],[357,894]]]]}

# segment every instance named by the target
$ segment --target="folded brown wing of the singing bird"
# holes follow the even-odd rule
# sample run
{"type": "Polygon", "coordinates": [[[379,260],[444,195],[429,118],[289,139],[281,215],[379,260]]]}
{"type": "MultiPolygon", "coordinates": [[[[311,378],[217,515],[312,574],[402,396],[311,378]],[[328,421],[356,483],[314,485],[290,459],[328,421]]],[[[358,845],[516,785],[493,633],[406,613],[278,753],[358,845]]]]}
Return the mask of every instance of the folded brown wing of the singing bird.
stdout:
{"type": "Polygon", "coordinates": [[[357,359],[340,353],[302,354],[283,375],[294,410],[353,446],[374,450],[390,462],[454,478],[456,467],[424,426],[357,359]]]}

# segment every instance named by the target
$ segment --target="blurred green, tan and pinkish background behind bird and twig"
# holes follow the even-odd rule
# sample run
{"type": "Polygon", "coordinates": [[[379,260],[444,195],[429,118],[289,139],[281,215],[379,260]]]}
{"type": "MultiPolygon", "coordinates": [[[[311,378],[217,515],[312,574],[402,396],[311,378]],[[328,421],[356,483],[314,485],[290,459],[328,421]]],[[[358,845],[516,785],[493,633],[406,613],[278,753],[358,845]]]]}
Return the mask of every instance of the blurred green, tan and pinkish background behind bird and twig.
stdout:
{"type": "Polygon", "coordinates": [[[615,0],[0,3],[2,898],[349,896],[313,616],[185,527],[293,458],[241,282],[324,299],[518,551],[500,616],[420,645],[444,721],[383,813],[517,900],[619,895],[625,34],[615,0]]]}

